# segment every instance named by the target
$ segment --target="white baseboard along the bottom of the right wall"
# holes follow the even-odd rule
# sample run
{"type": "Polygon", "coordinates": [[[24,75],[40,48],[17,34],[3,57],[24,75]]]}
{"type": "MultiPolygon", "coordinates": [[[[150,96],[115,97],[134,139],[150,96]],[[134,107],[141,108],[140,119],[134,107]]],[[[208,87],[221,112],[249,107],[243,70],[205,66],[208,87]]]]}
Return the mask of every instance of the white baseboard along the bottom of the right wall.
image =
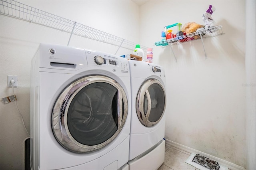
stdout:
{"type": "Polygon", "coordinates": [[[230,170],[245,170],[245,168],[242,167],[242,166],[238,166],[238,165],[233,164],[233,163],[231,163],[231,162],[228,162],[228,161],[226,161],[226,160],[217,158],[217,157],[212,156],[212,155],[210,155],[210,154],[206,154],[206,153],[204,153],[204,152],[201,152],[201,151],[199,151],[199,150],[190,148],[190,147],[188,147],[188,146],[184,146],[184,145],[182,145],[182,144],[178,144],[178,143],[173,142],[173,141],[171,141],[171,140],[165,139],[165,143],[166,143],[167,145],[174,146],[174,147],[176,147],[176,148],[178,148],[178,149],[181,149],[181,150],[184,150],[184,151],[186,151],[186,152],[200,154],[200,155],[202,155],[202,156],[205,156],[205,157],[207,157],[207,158],[210,158],[210,159],[212,159],[212,160],[215,160],[215,161],[218,162],[219,164],[228,167],[228,169],[230,169],[230,170]]]}

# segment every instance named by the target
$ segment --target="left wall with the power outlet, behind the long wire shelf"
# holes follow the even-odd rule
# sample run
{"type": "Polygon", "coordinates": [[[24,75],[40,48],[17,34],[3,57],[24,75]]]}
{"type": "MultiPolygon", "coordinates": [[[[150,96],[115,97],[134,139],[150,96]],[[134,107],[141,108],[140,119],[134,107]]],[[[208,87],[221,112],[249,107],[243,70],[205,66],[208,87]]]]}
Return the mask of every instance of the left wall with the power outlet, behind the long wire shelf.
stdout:
{"type": "MultiPolygon", "coordinates": [[[[139,7],[131,1],[19,1],[80,24],[139,42],[139,7]],[[129,20],[127,20],[129,18],[129,20]],[[133,25],[129,27],[129,25],[133,25]]],[[[0,97],[12,95],[7,76],[18,75],[17,105],[30,131],[30,62],[39,43],[67,45],[70,34],[0,15],[0,97]]],[[[73,35],[70,46],[116,53],[118,47],[73,35]]],[[[119,49],[117,55],[132,51],[119,49]]],[[[0,169],[24,168],[28,137],[15,103],[0,102],[0,169]]]]}

